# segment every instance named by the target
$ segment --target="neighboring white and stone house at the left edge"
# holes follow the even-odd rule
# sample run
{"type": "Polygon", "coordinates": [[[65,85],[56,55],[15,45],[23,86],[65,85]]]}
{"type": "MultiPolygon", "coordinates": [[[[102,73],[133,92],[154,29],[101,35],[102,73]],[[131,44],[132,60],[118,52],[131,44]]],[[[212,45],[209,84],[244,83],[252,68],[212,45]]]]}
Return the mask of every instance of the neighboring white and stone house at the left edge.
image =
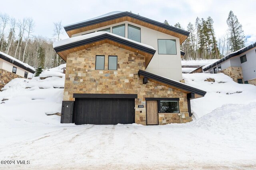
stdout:
{"type": "Polygon", "coordinates": [[[26,63],[0,52],[0,89],[14,78],[28,78],[35,69],[26,63]]]}

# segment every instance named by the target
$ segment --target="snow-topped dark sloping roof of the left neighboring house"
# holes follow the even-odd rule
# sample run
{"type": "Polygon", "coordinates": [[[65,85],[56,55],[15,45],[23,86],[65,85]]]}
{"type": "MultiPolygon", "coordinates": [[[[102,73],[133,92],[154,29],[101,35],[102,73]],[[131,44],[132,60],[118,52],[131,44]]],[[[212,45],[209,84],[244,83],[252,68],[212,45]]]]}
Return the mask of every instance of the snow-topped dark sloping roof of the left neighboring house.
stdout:
{"type": "Polygon", "coordinates": [[[23,63],[22,61],[19,61],[18,59],[15,59],[14,57],[10,56],[10,55],[7,55],[6,53],[3,53],[3,52],[0,52],[0,59],[3,59],[9,63],[12,63],[24,70],[27,70],[28,72],[31,72],[31,73],[35,73],[35,68],[33,68],[32,66],[26,64],[26,63],[23,63]]]}

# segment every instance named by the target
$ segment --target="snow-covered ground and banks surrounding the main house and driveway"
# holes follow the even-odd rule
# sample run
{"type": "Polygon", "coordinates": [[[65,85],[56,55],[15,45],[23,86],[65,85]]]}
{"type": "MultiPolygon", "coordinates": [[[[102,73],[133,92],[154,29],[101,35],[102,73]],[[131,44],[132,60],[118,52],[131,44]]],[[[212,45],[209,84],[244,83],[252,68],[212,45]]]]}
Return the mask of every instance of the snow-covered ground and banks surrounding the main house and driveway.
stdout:
{"type": "Polygon", "coordinates": [[[0,169],[255,169],[256,86],[224,74],[183,74],[207,91],[194,120],[161,126],[61,124],[61,68],[17,78],[0,92],[0,169]],[[57,77],[56,77],[57,76],[57,77]],[[204,81],[214,78],[215,82],[204,81]],[[30,88],[26,88],[30,87],[30,88]]]}

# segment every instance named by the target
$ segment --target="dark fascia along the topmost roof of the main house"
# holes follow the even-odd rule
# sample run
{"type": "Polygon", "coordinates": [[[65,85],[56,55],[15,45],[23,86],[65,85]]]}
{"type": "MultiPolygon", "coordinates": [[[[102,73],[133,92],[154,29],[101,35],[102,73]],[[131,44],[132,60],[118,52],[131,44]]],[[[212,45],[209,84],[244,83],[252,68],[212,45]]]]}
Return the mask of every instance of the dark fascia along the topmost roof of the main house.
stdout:
{"type": "Polygon", "coordinates": [[[137,19],[137,20],[140,20],[140,21],[144,21],[146,23],[150,23],[150,24],[156,25],[158,27],[162,27],[164,29],[168,29],[170,31],[174,31],[176,33],[180,33],[182,35],[188,36],[190,34],[190,32],[185,31],[183,29],[179,29],[179,28],[173,27],[171,25],[166,25],[166,24],[158,22],[158,21],[154,21],[154,20],[151,20],[151,19],[139,16],[139,15],[136,15],[136,14],[132,14],[131,12],[121,12],[121,13],[118,13],[118,14],[113,14],[111,16],[106,16],[106,17],[98,18],[98,19],[95,19],[95,20],[84,21],[82,23],[75,23],[74,25],[68,25],[68,26],[64,27],[64,29],[67,32],[67,31],[71,31],[71,30],[78,29],[78,28],[81,28],[81,27],[86,27],[86,26],[89,26],[89,25],[94,25],[96,23],[102,23],[102,22],[105,22],[105,21],[114,20],[116,18],[121,18],[121,17],[124,17],[124,16],[129,16],[131,18],[134,18],[134,19],[137,19]]]}

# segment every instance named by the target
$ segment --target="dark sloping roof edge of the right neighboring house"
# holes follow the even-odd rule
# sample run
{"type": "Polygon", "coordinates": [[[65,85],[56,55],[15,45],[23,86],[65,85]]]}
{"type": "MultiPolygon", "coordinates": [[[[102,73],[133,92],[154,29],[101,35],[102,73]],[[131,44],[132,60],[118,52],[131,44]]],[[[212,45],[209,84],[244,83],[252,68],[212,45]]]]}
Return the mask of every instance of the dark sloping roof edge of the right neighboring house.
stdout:
{"type": "Polygon", "coordinates": [[[210,68],[213,68],[214,66],[217,66],[218,64],[223,63],[224,61],[227,61],[228,59],[231,59],[232,57],[236,57],[236,56],[238,56],[238,55],[240,55],[240,54],[242,54],[242,53],[244,53],[244,52],[246,52],[246,51],[248,51],[248,50],[250,50],[250,49],[252,49],[254,47],[256,47],[256,42],[251,44],[251,45],[248,45],[248,46],[246,46],[246,47],[244,47],[242,49],[239,49],[238,51],[234,51],[233,53],[230,53],[229,55],[226,55],[225,57],[223,57],[222,59],[216,61],[215,63],[212,63],[212,64],[210,64],[208,66],[205,66],[203,68],[203,70],[204,71],[209,70],[210,68]]]}

